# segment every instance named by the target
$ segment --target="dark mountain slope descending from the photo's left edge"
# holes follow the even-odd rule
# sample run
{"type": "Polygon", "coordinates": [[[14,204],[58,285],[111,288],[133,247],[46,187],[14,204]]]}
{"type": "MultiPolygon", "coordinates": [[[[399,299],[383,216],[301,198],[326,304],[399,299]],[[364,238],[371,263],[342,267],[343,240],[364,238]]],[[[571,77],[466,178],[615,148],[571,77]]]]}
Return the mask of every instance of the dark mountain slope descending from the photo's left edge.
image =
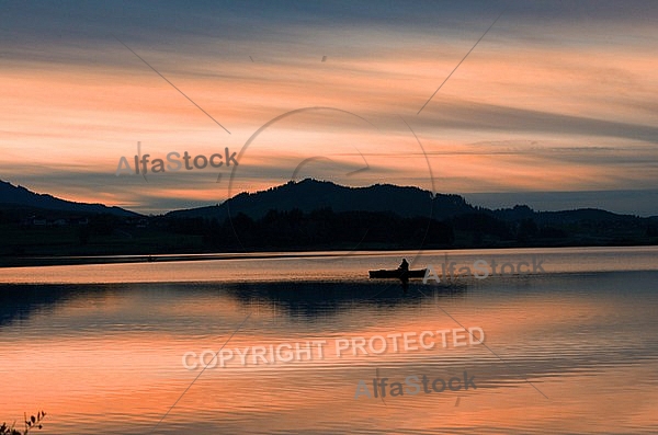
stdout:
{"type": "Polygon", "coordinates": [[[0,180],[1,208],[34,208],[39,210],[57,210],[79,214],[111,214],[115,216],[140,216],[121,207],[107,207],[102,204],[75,203],[57,198],[48,194],[38,194],[22,186],[0,180]]]}

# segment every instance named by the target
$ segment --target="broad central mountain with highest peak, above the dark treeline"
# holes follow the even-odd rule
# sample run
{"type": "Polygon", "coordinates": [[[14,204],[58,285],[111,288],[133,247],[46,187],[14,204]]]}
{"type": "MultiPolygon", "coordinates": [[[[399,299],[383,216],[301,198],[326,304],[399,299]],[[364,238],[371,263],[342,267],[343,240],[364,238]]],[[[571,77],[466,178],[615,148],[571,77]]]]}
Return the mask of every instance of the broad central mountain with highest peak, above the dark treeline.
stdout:
{"type": "Polygon", "coordinates": [[[347,187],[327,181],[306,179],[256,193],[240,193],[220,205],[175,210],[171,218],[218,218],[240,213],[260,219],[269,210],[290,211],[297,208],[310,213],[320,208],[341,211],[394,213],[400,217],[446,219],[477,209],[460,195],[432,194],[419,187],[375,184],[367,187],[347,187]]]}

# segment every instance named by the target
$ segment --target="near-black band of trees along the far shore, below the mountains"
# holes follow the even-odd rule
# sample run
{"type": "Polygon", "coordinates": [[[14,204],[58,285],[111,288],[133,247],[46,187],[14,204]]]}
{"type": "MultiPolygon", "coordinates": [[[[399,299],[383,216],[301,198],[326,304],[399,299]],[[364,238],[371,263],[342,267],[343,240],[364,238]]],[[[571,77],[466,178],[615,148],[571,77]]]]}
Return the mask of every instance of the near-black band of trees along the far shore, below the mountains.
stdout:
{"type": "Polygon", "coordinates": [[[653,218],[599,219],[590,211],[578,219],[532,210],[511,210],[507,219],[490,210],[435,219],[393,211],[294,208],[230,219],[80,215],[64,226],[56,225],[64,214],[53,213],[48,221],[54,224],[39,226],[25,218],[33,210],[1,211],[0,256],[658,244],[658,222],[653,218]]]}

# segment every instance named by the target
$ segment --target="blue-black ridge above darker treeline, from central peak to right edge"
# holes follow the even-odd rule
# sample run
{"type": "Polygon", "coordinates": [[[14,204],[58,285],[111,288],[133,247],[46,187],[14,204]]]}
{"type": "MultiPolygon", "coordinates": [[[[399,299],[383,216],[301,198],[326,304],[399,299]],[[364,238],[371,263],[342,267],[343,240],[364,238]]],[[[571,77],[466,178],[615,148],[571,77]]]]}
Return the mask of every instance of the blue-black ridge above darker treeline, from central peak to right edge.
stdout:
{"type": "MultiPolygon", "coordinates": [[[[372,211],[393,213],[402,218],[431,217],[436,220],[458,219],[486,215],[497,221],[515,222],[533,219],[537,225],[568,225],[576,222],[634,222],[654,221],[631,215],[617,215],[595,208],[563,211],[535,211],[525,205],[491,210],[472,206],[460,195],[435,194],[419,187],[375,184],[367,187],[347,187],[327,181],[306,179],[287,182],[280,186],[256,193],[240,193],[220,205],[174,210],[168,218],[226,219],[242,213],[251,219],[260,219],[269,210],[310,213],[331,208],[334,213],[372,211]]],[[[480,218],[481,219],[481,218],[480,218]]],[[[492,222],[487,221],[486,226],[492,222]]]]}

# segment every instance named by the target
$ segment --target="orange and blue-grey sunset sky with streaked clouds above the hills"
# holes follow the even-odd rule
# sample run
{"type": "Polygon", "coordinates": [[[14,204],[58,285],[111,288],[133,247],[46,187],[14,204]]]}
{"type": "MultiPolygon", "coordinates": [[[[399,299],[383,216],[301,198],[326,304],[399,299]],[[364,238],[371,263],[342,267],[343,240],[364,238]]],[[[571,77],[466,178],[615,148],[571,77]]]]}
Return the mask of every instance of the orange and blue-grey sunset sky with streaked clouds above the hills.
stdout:
{"type": "Polygon", "coordinates": [[[656,22],[654,1],[2,1],[0,180],[154,214],[310,176],[658,215],[656,22]]]}

